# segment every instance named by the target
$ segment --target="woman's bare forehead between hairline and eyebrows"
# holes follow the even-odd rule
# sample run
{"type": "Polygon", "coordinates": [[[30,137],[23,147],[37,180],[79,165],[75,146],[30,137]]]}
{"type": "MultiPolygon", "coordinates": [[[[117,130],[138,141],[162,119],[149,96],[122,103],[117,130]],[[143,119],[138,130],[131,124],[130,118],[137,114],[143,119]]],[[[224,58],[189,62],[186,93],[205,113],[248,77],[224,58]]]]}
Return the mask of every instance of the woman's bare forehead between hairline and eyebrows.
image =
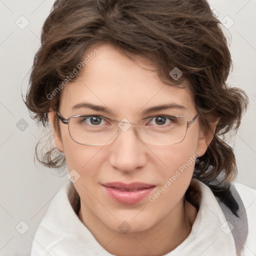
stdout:
{"type": "Polygon", "coordinates": [[[109,44],[91,47],[85,57],[95,48],[98,53],[90,56],[79,78],[63,88],[63,110],[71,114],[72,106],[81,102],[105,106],[116,115],[134,116],[145,108],[170,103],[192,110],[189,90],[161,81],[153,65],[142,57],[131,60],[109,44]]]}

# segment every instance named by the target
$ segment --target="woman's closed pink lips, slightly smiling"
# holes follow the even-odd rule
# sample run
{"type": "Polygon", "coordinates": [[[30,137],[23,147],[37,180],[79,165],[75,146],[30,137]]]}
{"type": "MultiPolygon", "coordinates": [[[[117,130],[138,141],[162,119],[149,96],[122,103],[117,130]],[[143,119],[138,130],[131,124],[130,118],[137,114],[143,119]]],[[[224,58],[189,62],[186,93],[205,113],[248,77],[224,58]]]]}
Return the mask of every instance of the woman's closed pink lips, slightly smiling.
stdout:
{"type": "Polygon", "coordinates": [[[102,184],[108,195],[119,203],[137,203],[154,189],[155,185],[141,182],[111,182],[102,184]]]}

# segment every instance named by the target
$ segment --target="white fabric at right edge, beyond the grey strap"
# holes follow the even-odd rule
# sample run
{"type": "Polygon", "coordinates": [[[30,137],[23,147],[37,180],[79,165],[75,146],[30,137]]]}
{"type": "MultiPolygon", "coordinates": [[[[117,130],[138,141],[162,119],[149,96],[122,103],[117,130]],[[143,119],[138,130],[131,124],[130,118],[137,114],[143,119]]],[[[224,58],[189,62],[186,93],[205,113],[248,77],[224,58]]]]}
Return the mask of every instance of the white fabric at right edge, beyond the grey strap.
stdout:
{"type": "Polygon", "coordinates": [[[248,236],[244,245],[244,251],[242,255],[255,255],[256,254],[256,189],[253,189],[247,185],[234,183],[238,194],[240,195],[244,208],[246,210],[248,220],[248,236]]]}

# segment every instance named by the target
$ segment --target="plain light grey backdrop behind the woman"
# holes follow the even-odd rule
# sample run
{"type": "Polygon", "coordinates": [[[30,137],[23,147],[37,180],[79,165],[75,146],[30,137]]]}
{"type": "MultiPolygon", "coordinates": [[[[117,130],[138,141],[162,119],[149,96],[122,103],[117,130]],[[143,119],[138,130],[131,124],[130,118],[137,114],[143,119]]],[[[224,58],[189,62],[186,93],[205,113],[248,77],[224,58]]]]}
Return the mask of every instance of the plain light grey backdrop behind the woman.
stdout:
{"type": "MultiPolygon", "coordinates": [[[[68,181],[35,162],[40,129],[21,98],[53,0],[0,0],[0,255],[29,255],[36,228],[51,199],[68,181]],[[20,222],[21,221],[21,222],[20,222]],[[24,232],[24,234],[22,234],[24,232]]],[[[237,182],[256,188],[256,1],[210,0],[230,43],[228,83],[241,87],[250,104],[230,140],[237,182]]],[[[255,203],[255,202],[254,202],[255,203]]]]}

